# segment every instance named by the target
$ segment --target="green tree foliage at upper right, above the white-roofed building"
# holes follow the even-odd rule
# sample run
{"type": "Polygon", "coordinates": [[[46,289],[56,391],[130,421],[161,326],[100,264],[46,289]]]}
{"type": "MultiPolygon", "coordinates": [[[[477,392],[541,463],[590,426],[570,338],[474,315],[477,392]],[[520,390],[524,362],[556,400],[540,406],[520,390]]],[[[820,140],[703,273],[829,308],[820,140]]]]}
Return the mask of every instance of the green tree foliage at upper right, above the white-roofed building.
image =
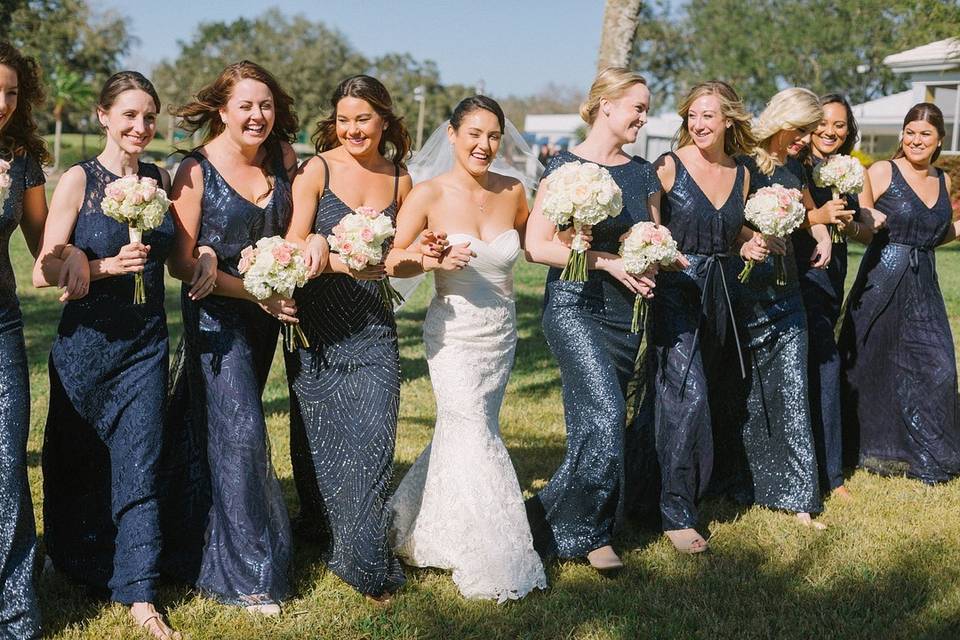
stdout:
{"type": "Polygon", "coordinates": [[[858,103],[904,88],[885,56],[958,32],[954,0],[690,0],[683,11],[657,0],[641,15],[633,64],[673,103],[712,78],[754,109],[787,86],[858,103]]]}

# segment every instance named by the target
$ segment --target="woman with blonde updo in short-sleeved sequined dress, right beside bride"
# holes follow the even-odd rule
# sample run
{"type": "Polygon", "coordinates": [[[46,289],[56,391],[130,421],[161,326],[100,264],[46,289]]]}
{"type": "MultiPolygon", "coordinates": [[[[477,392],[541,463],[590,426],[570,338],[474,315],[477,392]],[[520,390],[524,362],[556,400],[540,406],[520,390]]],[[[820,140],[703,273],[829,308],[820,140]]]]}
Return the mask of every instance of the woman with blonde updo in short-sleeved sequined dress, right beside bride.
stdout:
{"type": "Polygon", "coordinates": [[[650,91],[643,76],[622,67],[601,71],[580,116],[587,139],[554,156],[546,177],[567,162],[605,167],[623,191],[623,211],[592,229],[587,282],[560,280],[570,249],[554,241],[556,226],[537,194],[527,223],[528,260],[550,267],[543,332],[560,365],[567,452],[547,486],[527,501],[534,546],[541,555],[586,556],[598,570],[623,566],[611,546],[622,519],[627,383],[640,335],[630,332],[637,294],[652,295],[653,281],[623,269],[620,237],[650,218],[648,198],[660,184],[653,167],[621,147],[637,139],[647,121],[650,91]]]}

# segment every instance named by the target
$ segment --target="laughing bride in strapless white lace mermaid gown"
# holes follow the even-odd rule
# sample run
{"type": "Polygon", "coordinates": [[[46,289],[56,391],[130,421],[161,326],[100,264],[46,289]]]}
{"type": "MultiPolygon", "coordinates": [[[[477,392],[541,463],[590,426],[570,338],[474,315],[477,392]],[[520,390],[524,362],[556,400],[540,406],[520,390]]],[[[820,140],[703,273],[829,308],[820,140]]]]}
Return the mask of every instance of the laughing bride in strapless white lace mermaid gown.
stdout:
{"type": "Polygon", "coordinates": [[[546,588],[500,438],[517,342],[513,265],[528,215],[523,184],[489,171],[505,125],[490,98],[457,105],[411,173],[450,163],[448,151],[453,166],[407,196],[386,263],[400,277],[435,271],[437,289],[423,324],[437,423],[390,500],[391,541],[408,564],[452,570],[464,597],[498,602],[546,588]]]}

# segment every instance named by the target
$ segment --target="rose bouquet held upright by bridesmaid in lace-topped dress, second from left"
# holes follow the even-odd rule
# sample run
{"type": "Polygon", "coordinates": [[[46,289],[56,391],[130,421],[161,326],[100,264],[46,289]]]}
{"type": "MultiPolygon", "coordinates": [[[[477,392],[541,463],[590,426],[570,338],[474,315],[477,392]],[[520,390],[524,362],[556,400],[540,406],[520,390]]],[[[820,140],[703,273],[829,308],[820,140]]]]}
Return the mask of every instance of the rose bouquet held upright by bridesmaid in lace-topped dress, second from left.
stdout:
{"type": "MultiPolygon", "coordinates": [[[[156,229],[163,224],[163,217],[170,208],[170,200],[153,178],[129,175],[106,186],[101,207],[104,215],[127,225],[130,242],[142,242],[144,231],[156,229]]],[[[133,282],[133,303],[145,303],[147,292],[143,274],[135,273],[133,282]]]]}

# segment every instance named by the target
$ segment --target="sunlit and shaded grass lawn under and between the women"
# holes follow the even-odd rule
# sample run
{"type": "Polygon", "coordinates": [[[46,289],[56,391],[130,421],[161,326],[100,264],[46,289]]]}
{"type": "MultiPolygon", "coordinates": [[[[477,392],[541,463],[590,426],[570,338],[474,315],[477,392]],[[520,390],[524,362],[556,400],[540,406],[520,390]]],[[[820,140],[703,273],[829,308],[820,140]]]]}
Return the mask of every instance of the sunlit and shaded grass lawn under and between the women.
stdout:
{"type": "MultiPolygon", "coordinates": [[[[960,247],[938,256],[957,335],[960,247]]],[[[19,236],[13,257],[33,390],[29,473],[42,532],[46,362],[59,307],[54,292],[29,286],[30,261],[19,236]]],[[[521,264],[516,275],[520,343],[502,419],[520,484],[531,493],[559,463],[564,433],[559,376],[539,330],[543,270],[521,264]]],[[[174,291],[168,290],[167,309],[177,340],[174,291]]],[[[404,378],[396,479],[433,425],[420,341],[427,295],[422,289],[399,316],[404,378]]],[[[296,513],[279,357],[264,400],[273,462],[296,513]]],[[[326,572],[316,549],[303,545],[294,563],[296,598],[277,620],[253,619],[185,588],[165,588],[160,604],[193,639],[960,637],[960,482],[927,487],[858,472],[848,486],[857,499],[827,503],[825,532],[803,529],[786,514],[708,500],[703,519],[712,534],[710,554],[681,556],[656,532],[628,529],[618,541],[627,565],[619,577],[599,577],[577,562],[550,564],[549,591],[502,606],[463,600],[444,572],[411,569],[406,587],[383,611],[326,572]]],[[[45,576],[40,591],[48,637],[145,637],[122,607],[90,600],[58,577],[45,576]]]]}

